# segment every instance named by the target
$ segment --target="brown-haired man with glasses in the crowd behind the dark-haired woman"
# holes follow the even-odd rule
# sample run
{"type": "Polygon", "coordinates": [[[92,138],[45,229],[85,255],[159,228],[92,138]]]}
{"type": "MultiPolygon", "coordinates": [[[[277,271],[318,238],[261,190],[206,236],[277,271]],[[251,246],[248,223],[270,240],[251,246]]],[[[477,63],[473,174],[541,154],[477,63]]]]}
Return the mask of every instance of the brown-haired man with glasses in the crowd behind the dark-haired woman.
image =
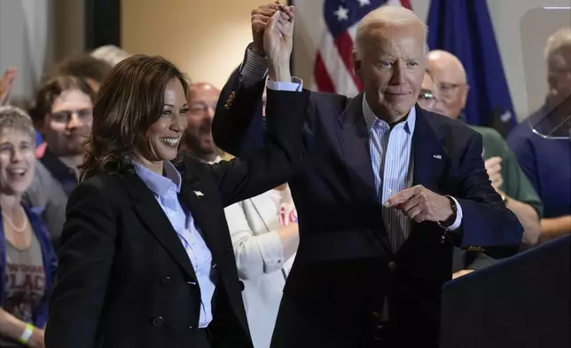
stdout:
{"type": "Polygon", "coordinates": [[[93,98],[94,92],[85,80],[53,77],[40,87],[29,111],[47,146],[23,199],[41,210],[56,249],[66,220],[67,197],[78,183],[83,142],[91,131],[93,98]]]}

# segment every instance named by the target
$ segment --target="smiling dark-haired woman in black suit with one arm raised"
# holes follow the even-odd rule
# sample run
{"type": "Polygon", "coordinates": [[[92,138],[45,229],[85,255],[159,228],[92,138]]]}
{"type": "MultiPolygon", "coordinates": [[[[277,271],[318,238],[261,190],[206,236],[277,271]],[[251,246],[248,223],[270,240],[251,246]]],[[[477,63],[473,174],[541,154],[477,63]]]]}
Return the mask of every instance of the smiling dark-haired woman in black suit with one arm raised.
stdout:
{"type": "Polygon", "coordinates": [[[264,150],[211,166],[188,158],[181,175],[170,161],[186,90],[173,64],[141,55],[101,86],[67,203],[47,347],[252,347],[223,208],[292,176],[307,101],[269,91],[264,150]]]}

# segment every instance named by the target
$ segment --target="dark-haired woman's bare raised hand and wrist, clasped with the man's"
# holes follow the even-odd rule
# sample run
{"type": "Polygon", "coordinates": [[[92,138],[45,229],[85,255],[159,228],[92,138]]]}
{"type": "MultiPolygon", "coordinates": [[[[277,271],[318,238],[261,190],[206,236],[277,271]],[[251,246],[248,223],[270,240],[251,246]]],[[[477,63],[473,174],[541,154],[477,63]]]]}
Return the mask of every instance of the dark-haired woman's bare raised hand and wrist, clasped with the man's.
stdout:
{"type": "MultiPolygon", "coordinates": [[[[263,49],[268,55],[269,75],[276,75],[282,81],[289,75],[289,62],[293,50],[293,6],[284,7],[284,11],[275,12],[264,31],[263,49]]],[[[291,81],[291,75],[289,75],[291,81]]]]}

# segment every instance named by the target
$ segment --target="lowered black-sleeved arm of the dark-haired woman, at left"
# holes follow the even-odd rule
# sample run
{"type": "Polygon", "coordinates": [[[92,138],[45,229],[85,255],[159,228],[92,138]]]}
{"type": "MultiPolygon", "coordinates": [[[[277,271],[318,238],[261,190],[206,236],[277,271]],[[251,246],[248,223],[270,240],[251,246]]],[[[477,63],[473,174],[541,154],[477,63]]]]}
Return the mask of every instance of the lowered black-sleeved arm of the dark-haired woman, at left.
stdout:
{"type": "Polygon", "coordinates": [[[51,295],[47,348],[90,348],[106,297],[114,257],[115,221],[105,194],[84,183],[66,209],[59,249],[59,270],[51,295]]]}

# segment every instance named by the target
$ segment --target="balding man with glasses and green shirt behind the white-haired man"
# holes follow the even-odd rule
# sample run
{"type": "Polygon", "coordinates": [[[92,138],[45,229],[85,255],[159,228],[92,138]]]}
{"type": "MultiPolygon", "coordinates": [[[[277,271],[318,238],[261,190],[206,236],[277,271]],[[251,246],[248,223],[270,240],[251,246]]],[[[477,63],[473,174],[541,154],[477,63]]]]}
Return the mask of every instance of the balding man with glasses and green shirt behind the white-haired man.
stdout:
{"type": "MultiPolygon", "coordinates": [[[[448,51],[430,51],[427,67],[430,73],[425,75],[422,88],[424,91],[433,91],[434,100],[430,103],[432,108],[429,106],[426,108],[452,119],[458,119],[462,115],[469,91],[464,66],[456,56],[448,51]]],[[[419,105],[426,104],[425,100],[418,102],[419,105]]],[[[517,158],[508,148],[504,138],[491,128],[471,127],[482,136],[483,156],[492,186],[502,196],[506,207],[512,210],[524,227],[524,246],[535,245],[541,230],[539,218],[543,214],[543,203],[521,170],[517,158]]],[[[455,273],[455,275],[483,268],[490,262],[485,260],[480,264],[473,262],[467,262],[467,264],[470,268],[455,273]]]]}

